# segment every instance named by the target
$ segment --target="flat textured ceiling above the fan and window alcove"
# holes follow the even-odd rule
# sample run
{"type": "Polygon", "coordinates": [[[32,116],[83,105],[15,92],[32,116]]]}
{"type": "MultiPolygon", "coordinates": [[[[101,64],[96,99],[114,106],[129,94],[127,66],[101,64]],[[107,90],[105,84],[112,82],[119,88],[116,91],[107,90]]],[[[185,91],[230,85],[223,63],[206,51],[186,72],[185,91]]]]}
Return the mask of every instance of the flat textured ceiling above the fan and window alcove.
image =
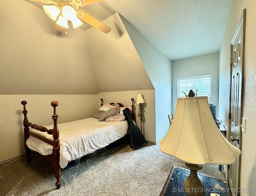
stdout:
{"type": "Polygon", "coordinates": [[[231,0],[104,0],[82,10],[98,20],[118,12],[166,57],[177,60],[220,51],[230,4],[231,0]]]}

